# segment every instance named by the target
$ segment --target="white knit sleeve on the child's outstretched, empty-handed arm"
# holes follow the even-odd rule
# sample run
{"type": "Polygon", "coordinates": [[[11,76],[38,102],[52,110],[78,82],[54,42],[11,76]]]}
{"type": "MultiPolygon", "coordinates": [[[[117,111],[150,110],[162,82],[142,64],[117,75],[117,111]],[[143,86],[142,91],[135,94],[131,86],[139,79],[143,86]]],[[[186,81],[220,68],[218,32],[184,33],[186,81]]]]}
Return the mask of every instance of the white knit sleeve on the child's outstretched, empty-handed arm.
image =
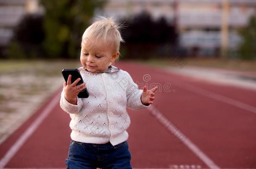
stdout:
{"type": "Polygon", "coordinates": [[[148,108],[150,105],[144,105],[141,102],[141,94],[143,90],[138,89],[138,85],[134,83],[128,72],[126,73],[126,81],[127,81],[127,90],[126,90],[126,98],[127,98],[127,107],[133,110],[138,110],[141,108],[148,108]]]}

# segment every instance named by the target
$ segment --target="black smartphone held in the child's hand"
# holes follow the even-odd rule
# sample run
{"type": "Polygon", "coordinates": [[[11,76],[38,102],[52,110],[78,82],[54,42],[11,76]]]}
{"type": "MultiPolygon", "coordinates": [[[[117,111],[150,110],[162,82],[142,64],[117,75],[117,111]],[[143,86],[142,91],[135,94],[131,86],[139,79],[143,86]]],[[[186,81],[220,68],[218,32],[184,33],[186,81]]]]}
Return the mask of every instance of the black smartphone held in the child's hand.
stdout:
{"type": "MultiPolygon", "coordinates": [[[[73,83],[74,81],[76,81],[77,78],[80,78],[81,80],[76,84],[76,86],[78,86],[79,84],[84,83],[84,80],[80,74],[80,72],[78,71],[78,69],[63,69],[62,70],[62,75],[67,83],[68,81],[68,76],[71,75],[71,83],[73,83]]],[[[87,89],[85,88],[83,91],[80,91],[77,95],[79,98],[88,98],[89,97],[89,93],[87,91],[87,89]]]]}

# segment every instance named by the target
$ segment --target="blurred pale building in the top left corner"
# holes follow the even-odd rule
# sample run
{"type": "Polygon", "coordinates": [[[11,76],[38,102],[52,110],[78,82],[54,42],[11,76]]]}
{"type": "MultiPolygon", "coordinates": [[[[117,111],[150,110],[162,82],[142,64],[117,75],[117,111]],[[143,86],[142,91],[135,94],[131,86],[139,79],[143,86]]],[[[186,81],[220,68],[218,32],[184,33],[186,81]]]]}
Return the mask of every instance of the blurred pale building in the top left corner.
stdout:
{"type": "Polygon", "coordinates": [[[26,14],[42,14],[38,0],[0,0],[0,47],[8,45],[15,28],[26,14]]]}

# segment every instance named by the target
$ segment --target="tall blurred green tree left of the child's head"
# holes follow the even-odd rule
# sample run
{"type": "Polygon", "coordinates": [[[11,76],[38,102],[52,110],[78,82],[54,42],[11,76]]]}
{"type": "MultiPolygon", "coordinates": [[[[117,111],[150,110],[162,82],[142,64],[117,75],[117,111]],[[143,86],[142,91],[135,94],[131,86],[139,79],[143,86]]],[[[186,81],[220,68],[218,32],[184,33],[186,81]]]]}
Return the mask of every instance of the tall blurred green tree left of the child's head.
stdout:
{"type": "Polygon", "coordinates": [[[95,8],[105,0],[42,0],[44,48],[50,58],[75,58],[95,8]]]}

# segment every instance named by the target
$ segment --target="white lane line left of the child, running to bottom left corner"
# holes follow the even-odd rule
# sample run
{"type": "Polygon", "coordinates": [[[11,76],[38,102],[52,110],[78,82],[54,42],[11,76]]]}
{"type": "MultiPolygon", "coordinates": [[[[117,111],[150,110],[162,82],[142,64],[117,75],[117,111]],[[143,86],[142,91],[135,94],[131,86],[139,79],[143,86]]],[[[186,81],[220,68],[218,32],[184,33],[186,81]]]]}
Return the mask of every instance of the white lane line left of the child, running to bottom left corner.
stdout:
{"type": "Polygon", "coordinates": [[[44,121],[44,119],[51,112],[52,108],[59,102],[60,95],[56,94],[56,96],[50,101],[50,103],[46,106],[44,111],[37,117],[37,119],[26,129],[26,131],[20,136],[20,138],[13,144],[13,146],[7,151],[5,156],[0,161],[0,168],[3,168],[10,159],[17,153],[17,151],[21,148],[21,146],[25,143],[25,141],[34,133],[34,131],[38,128],[38,126],[44,121]]]}

